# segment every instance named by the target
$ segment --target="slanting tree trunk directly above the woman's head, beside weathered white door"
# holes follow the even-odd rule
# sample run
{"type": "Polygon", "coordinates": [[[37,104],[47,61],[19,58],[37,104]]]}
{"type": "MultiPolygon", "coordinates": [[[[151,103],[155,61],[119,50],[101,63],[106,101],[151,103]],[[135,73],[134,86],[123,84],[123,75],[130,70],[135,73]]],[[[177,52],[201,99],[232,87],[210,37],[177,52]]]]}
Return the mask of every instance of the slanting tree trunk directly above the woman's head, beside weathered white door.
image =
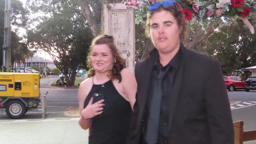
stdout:
{"type": "Polygon", "coordinates": [[[91,12],[91,9],[88,5],[89,2],[87,0],[79,0],[79,2],[81,5],[82,15],[87,20],[93,36],[96,37],[100,33],[100,29],[98,28],[98,24],[93,17],[93,13],[91,12]]]}

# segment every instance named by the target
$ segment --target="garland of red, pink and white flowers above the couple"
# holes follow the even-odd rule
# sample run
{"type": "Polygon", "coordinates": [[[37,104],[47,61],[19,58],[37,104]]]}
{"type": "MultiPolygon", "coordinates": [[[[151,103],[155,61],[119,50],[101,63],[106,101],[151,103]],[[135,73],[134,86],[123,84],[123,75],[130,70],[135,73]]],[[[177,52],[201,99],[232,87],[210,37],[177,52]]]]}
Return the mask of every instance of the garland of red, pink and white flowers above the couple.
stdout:
{"type": "MultiPolygon", "coordinates": [[[[126,0],[126,7],[139,9],[143,6],[157,2],[170,0],[126,0]]],[[[250,32],[254,34],[254,28],[248,18],[250,13],[256,9],[256,0],[174,0],[180,5],[186,20],[204,20],[215,17],[236,17],[241,18],[250,32]]]]}

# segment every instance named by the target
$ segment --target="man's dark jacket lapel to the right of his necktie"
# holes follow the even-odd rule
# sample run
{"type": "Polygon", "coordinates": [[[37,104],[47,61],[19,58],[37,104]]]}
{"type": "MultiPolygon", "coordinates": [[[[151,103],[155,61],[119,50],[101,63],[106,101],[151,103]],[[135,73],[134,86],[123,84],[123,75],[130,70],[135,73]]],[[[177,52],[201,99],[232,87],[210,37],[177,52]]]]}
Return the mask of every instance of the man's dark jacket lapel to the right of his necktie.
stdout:
{"type": "Polygon", "coordinates": [[[182,59],[181,59],[178,71],[176,72],[176,78],[174,80],[173,89],[171,92],[171,101],[170,101],[170,109],[169,109],[169,126],[168,126],[169,129],[171,128],[171,124],[173,122],[173,116],[175,113],[176,104],[179,97],[180,87],[181,87],[183,73],[184,73],[186,52],[187,52],[187,49],[184,47],[182,43],[180,43],[180,48],[182,52],[182,59]]]}

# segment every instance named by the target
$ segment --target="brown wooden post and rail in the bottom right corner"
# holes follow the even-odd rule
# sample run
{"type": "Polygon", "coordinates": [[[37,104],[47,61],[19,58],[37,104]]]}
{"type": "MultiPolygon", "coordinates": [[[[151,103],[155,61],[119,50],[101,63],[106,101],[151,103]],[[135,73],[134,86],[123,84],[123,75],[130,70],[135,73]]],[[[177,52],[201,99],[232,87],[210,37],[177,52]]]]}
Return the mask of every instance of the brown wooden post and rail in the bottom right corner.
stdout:
{"type": "Polygon", "coordinates": [[[235,144],[243,144],[245,141],[256,140],[256,130],[243,131],[243,121],[233,123],[235,131],[235,144]]]}

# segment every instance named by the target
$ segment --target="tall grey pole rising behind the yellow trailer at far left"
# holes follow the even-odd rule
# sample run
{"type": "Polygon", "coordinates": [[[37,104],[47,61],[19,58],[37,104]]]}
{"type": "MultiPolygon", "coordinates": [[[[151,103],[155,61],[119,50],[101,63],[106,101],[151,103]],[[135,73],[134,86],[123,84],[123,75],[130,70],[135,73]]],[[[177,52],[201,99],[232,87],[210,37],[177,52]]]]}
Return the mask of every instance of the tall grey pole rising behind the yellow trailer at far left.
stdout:
{"type": "Polygon", "coordinates": [[[3,72],[11,70],[11,4],[10,0],[5,0],[4,10],[4,44],[3,44],[3,72]]]}

